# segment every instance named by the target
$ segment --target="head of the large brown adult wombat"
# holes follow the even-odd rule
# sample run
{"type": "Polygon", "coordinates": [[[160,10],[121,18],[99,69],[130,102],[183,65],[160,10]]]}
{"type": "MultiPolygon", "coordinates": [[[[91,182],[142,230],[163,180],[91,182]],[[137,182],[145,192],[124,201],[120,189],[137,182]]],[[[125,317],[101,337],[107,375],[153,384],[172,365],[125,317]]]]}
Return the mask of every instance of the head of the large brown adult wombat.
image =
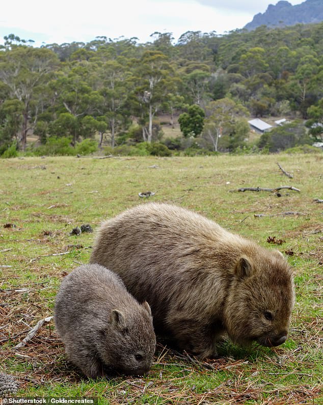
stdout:
{"type": "Polygon", "coordinates": [[[279,346],[287,339],[293,305],[292,272],[280,252],[261,249],[255,257],[238,258],[225,308],[233,341],[279,346]]]}

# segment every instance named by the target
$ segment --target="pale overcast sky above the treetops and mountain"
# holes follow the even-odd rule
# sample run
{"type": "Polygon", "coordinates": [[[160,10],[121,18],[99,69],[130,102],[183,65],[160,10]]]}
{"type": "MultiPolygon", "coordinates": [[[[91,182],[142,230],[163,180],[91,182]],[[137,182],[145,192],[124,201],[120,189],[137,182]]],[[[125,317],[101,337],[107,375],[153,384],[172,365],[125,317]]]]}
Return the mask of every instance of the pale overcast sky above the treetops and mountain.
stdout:
{"type": "MultiPolygon", "coordinates": [[[[226,31],[243,28],[257,13],[278,0],[15,0],[4,1],[0,43],[8,34],[42,43],[89,42],[96,36],[115,39],[171,32],[175,40],[186,31],[226,31]]],[[[292,5],[304,0],[289,0],[292,5]]]]}

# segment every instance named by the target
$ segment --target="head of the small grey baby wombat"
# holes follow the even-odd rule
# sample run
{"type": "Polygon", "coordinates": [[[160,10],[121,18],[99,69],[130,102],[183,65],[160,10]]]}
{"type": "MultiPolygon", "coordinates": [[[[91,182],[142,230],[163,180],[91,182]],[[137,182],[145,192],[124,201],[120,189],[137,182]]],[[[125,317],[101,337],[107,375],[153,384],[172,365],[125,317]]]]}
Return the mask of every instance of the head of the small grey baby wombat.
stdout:
{"type": "Polygon", "coordinates": [[[103,331],[102,360],[123,374],[143,375],[151,367],[156,337],[147,302],[133,310],[113,309],[109,327],[103,331]]]}

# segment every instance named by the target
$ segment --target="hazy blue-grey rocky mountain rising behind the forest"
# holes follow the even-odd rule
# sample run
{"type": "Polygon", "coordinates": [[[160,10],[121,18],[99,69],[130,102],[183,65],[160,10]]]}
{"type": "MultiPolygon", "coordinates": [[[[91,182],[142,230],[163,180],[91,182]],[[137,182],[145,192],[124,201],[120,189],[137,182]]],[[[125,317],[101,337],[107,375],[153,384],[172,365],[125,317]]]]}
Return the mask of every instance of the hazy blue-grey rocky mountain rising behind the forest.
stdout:
{"type": "Polygon", "coordinates": [[[253,20],[245,25],[245,29],[252,31],[260,25],[286,26],[320,21],[323,21],[322,0],[306,0],[295,6],[281,0],[276,6],[270,4],[263,14],[256,14],[253,20]]]}

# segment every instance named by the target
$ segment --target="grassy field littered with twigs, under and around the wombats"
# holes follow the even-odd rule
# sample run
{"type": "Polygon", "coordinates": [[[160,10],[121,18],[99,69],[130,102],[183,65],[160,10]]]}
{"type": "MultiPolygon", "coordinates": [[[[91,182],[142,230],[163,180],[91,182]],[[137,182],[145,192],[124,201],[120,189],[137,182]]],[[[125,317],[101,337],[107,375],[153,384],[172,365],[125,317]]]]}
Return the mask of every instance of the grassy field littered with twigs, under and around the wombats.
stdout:
{"type": "Polygon", "coordinates": [[[314,199],[323,199],[323,154],[0,160],[0,371],[18,378],[24,397],[93,397],[113,405],[323,403],[323,204],[314,199]],[[281,185],[300,192],[237,191],[281,185]],[[147,191],[156,192],[149,201],[195,210],[287,255],[297,303],[285,344],[224,342],[219,359],[199,361],[159,343],[148,376],[110,381],[89,381],[68,362],[52,320],[15,348],[52,315],[62,277],[89,260],[93,233],[71,230],[95,230],[102,219],[147,201],[138,196],[147,191]]]}

